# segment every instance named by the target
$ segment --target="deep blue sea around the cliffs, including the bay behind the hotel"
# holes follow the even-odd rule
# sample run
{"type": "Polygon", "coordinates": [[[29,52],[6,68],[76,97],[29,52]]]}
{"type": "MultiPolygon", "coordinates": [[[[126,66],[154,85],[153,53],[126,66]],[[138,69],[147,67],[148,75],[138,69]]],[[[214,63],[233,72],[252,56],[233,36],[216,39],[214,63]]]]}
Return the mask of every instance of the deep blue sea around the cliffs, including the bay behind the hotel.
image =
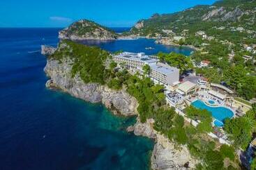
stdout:
{"type": "MultiPolygon", "coordinates": [[[[126,133],[135,118],[117,117],[103,105],[47,90],[40,45],[57,46],[60,28],[0,28],[0,169],[149,169],[153,141],[126,133]]],[[[97,44],[96,44],[97,45],[97,44]]],[[[110,51],[190,49],[119,40],[110,51]]]]}

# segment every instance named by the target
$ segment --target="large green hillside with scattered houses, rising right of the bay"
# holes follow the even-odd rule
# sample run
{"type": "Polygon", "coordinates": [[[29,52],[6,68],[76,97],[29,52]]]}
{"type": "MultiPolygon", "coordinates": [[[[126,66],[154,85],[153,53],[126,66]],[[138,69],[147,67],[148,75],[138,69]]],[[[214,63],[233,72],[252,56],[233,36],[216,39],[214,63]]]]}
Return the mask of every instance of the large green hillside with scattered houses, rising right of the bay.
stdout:
{"type": "Polygon", "coordinates": [[[130,35],[162,44],[197,47],[191,56],[197,74],[223,83],[244,99],[256,97],[256,1],[223,0],[173,14],[142,19],[130,35]],[[202,60],[209,67],[198,68],[202,60]]]}

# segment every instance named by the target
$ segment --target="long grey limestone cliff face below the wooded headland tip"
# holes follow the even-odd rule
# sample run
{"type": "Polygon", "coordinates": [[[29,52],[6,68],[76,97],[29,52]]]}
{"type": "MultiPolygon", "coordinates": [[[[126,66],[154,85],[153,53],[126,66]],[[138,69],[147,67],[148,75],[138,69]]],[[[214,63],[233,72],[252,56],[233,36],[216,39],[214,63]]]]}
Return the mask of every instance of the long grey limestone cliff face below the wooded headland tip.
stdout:
{"type": "Polygon", "coordinates": [[[114,114],[131,116],[137,114],[137,101],[124,91],[110,90],[104,85],[97,83],[84,83],[80,77],[71,77],[72,62],[66,60],[47,60],[45,73],[51,79],[47,81],[47,87],[57,87],[84,101],[91,103],[103,103],[114,114]]]}

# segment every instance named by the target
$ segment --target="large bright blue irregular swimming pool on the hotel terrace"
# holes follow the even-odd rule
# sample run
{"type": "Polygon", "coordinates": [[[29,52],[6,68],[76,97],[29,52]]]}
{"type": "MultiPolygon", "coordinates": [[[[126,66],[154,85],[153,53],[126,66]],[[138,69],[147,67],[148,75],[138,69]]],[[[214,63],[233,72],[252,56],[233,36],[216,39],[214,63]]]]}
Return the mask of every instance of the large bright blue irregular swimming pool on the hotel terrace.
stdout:
{"type": "Polygon", "coordinates": [[[234,112],[228,108],[224,108],[222,106],[212,107],[206,105],[206,103],[201,100],[194,101],[193,103],[191,103],[191,105],[193,105],[195,108],[206,109],[211,112],[211,115],[215,119],[213,121],[213,124],[217,127],[222,127],[224,125],[225,119],[231,119],[234,116],[234,112]]]}

